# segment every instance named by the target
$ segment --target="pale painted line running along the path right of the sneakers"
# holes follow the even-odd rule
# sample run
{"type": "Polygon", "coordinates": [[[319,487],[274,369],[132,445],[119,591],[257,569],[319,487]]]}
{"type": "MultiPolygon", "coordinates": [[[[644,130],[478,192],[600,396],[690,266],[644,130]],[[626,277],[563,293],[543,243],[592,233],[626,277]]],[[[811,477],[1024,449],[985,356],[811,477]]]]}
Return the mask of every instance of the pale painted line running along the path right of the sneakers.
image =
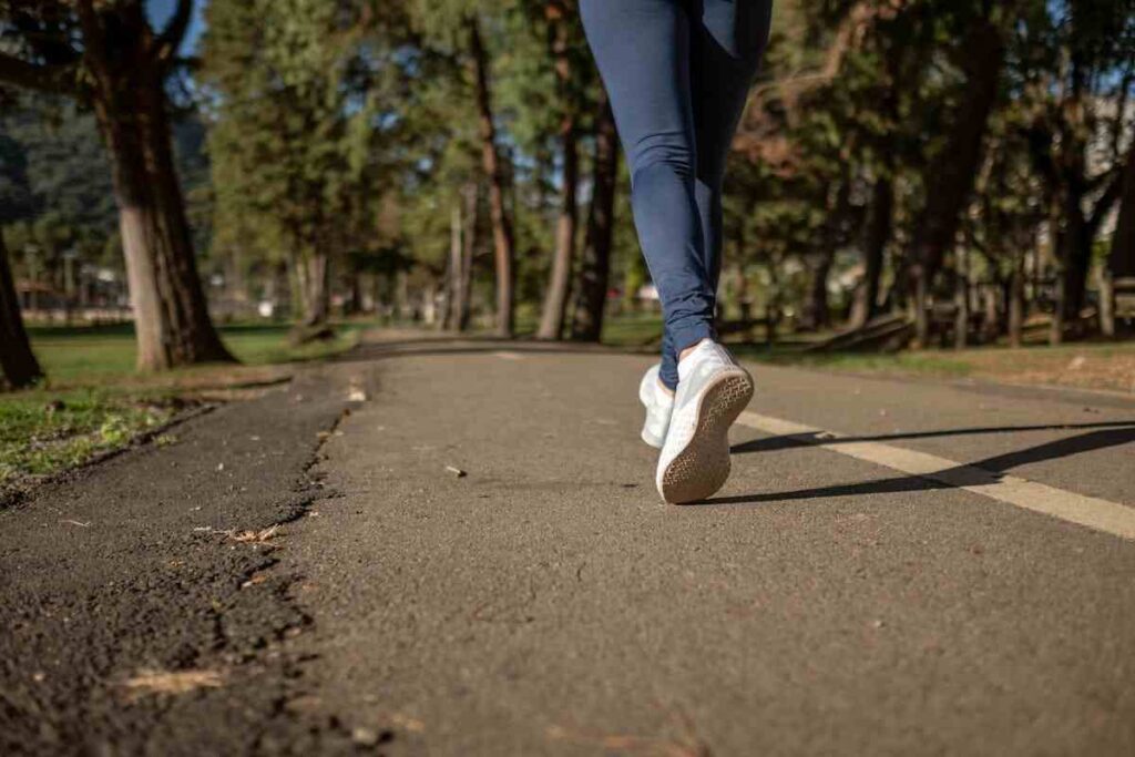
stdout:
{"type": "Polygon", "coordinates": [[[841,439],[847,439],[847,435],[749,411],[741,413],[737,422],[774,436],[807,436],[810,437],[807,440],[817,447],[856,460],[1135,540],[1135,507],[1125,507],[1107,499],[1065,491],[1016,476],[994,473],[924,452],[878,441],[844,441],[841,439]]]}

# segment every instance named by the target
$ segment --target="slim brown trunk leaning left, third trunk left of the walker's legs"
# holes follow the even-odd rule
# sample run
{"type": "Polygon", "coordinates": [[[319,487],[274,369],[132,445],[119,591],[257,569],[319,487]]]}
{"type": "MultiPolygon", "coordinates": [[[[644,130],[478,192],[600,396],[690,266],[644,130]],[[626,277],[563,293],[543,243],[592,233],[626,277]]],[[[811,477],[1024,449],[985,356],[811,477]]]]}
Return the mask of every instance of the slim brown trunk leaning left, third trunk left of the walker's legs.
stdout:
{"type": "Polygon", "coordinates": [[[515,243],[512,217],[505,200],[505,174],[496,144],[493,121],[493,91],[489,85],[489,60],[481,42],[480,23],[476,16],[465,18],[469,51],[477,82],[477,110],[481,136],[481,163],[489,179],[489,217],[493,220],[493,245],[496,260],[497,335],[512,338],[515,328],[515,243]]]}

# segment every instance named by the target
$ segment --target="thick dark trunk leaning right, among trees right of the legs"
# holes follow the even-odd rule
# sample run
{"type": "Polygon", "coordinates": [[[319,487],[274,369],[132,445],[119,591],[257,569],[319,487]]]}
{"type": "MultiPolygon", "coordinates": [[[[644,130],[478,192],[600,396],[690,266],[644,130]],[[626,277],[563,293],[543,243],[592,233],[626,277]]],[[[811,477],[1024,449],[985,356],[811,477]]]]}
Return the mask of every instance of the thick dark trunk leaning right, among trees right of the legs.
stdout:
{"type": "Polygon", "coordinates": [[[953,246],[961,210],[974,187],[1004,65],[1001,32],[989,19],[970,27],[960,50],[965,93],[945,146],[927,166],[926,205],[916,222],[909,252],[918,345],[925,345],[930,336],[928,294],[945,253],[953,246]]]}

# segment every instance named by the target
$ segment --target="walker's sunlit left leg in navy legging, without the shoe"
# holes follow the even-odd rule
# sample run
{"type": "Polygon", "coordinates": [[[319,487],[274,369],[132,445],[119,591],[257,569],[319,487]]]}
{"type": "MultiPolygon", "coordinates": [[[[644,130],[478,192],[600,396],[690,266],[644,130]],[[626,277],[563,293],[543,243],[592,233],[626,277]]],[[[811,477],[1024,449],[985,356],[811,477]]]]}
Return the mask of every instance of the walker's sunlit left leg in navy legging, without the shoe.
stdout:
{"type": "Polygon", "coordinates": [[[673,390],[678,353],[713,337],[714,317],[695,194],[689,6],[581,0],[580,11],[630,165],[634,226],[665,320],[659,378],[673,390]]]}

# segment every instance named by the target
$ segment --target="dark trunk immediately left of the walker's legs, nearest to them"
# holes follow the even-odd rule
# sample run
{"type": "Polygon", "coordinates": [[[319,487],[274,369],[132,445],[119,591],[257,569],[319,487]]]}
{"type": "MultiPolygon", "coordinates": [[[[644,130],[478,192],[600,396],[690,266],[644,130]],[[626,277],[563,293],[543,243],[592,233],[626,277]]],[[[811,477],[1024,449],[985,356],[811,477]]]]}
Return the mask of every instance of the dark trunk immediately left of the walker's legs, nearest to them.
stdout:
{"type": "Polygon", "coordinates": [[[591,208],[579,271],[579,297],[572,319],[572,338],[598,342],[607,304],[611,244],[615,229],[615,186],[619,179],[619,135],[611,103],[604,94],[595,125],[591,208]]]}

